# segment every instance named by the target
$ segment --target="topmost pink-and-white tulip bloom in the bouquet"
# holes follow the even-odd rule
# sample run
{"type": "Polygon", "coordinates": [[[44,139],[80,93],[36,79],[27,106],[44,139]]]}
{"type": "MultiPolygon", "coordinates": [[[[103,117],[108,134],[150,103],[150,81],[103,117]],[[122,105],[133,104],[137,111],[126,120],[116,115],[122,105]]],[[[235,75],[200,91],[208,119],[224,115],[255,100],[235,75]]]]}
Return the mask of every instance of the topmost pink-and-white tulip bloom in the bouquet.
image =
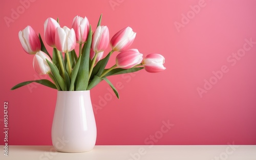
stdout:
{"type": "Polygon", "coordinates": [[[76,16],[73,20],[72,28],[75,30],[76,33],[76,42],[77,43],[84,43],[87,40],[87,36],[89,33],[89,21],[87,17],[79,17],[76,16]]]}

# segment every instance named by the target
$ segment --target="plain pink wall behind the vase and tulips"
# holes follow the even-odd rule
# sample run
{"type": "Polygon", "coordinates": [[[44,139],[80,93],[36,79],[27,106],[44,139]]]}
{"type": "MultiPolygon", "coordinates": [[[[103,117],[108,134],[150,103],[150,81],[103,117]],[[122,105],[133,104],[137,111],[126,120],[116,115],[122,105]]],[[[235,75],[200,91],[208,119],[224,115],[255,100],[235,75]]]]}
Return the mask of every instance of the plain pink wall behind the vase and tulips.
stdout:
{"type": "MultiPolygon", "coordinates": [[[[104,82],[92,89],[97,145],[256,144],[256,1],[23,1],[26,8],[19,0],[0,3],[0,126],[8,101],[9,145],[51,145],[57,92],[40,85],[10,91],[46,78],[34,71],[18,32],[31,25],[44,39],[48,17],[71,27],[76,15],[87,16],[95,30],[101,13],[111,37],[131,26],[131,48],[162,54],[167,69],[111,77],[121,84],[120,99],[104,82]],[[172,124],[165,132],[163,121],[172,124]]],[[[2,131],[0,137],[3,145],[2,131]]]]}

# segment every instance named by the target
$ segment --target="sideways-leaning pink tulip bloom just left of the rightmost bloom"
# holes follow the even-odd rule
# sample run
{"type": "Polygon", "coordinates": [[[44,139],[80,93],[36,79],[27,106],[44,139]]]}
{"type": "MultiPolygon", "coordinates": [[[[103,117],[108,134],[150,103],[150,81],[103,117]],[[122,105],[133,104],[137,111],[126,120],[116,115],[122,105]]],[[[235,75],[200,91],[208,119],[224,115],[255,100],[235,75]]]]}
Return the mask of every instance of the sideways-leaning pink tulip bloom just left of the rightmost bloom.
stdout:
{"type": "Polygon", "coordinates": [[[138,49],[122,51],[116,56],[116,65],[123,69],[132,68],[141,63],[143,60],[142,56],[138,49]]]}

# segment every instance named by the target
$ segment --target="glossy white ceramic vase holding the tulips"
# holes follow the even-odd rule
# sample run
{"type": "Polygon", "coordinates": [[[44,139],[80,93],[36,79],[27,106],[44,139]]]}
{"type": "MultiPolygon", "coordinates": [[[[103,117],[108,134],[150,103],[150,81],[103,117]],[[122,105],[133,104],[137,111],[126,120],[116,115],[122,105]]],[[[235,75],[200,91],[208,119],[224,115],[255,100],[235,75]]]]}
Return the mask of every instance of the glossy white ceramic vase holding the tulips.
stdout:
{"type": "Polygon", "coordinates": [[[89,91],[58,91],[52,123],[52,144],[59,152],[93,149],[97,129],[89,91]]]}

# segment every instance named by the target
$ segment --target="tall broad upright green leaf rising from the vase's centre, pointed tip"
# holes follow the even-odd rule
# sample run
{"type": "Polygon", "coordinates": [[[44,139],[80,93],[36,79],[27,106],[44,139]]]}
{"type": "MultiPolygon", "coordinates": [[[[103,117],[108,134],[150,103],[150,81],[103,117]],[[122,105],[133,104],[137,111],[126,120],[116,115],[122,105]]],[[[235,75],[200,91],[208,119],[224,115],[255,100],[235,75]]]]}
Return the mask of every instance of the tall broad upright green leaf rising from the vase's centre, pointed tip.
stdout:
{"type": "Polygon", "coordinates": [[[90,25],[89,34],[87,37],[87,43],[84,44],[84,49],[82,51],[80,67],[78,70],[78,77],[76,83],[76,91],[87,90],[89,82],[89,59],[90,59],[90,49],[92,44],[92,28],[90,25]]]}

